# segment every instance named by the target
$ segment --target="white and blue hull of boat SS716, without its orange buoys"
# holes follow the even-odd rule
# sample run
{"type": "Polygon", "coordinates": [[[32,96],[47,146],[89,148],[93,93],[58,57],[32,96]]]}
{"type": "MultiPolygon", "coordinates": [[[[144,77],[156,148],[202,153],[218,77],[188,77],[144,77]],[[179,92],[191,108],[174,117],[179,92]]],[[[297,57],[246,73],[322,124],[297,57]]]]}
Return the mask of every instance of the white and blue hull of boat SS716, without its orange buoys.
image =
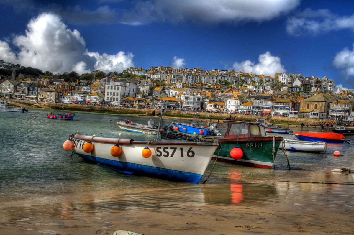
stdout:
{"type": "Polygon", "coordinates": [[[133,141],[126,139],[102,138],[71,135],[72,151],[82,158],[114,167],[121,173],[137,174],[166,180],[198,183],[210,159],[219,147],[217,143],[191,143],[181,140],[133,141]],[[94,149],[86,153],[82,147],[92,139],[94,149]],[[114,157],[110,149],[120,143],[121,155],[114,157]],[[148,146],[152,155],[142,156],[148,146]]]}

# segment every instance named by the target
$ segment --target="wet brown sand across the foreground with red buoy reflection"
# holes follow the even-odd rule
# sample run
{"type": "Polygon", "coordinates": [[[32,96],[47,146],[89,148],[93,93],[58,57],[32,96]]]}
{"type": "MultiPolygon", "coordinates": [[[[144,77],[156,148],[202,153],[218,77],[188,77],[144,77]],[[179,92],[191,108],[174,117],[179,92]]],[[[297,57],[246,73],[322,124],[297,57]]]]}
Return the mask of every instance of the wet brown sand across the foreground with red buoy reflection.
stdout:
{"type": "MultiPolygon", "coordinates": [[[[354,174],[283,171],[273,181],[174,184],[1,203],[0,234],[353,234],[354,174]]],[[[217,180],[217,179],[215,179],[217,180]]]]}

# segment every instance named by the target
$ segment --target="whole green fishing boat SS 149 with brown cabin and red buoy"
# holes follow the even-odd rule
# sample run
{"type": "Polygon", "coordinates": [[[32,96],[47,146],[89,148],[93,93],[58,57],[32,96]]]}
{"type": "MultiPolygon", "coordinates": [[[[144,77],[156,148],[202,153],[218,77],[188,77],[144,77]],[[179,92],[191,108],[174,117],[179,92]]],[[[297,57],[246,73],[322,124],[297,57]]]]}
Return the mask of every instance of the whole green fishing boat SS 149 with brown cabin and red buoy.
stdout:
{"type": "Polygon", "coordinates": [[[221,161],[258,168],[272,168],[276,153],[283,137],[267,136],[264,126],[242,121],[223,121],[228,125],[224,137],[205,138],[199,135],[188,135],[168,128],[161,130],[161,138],[179,138],[189,141],[211,141],[217,139],[221,150],[213,157],[221,161]],[[236,148],[235,148],[236,147],[236,148]]]}

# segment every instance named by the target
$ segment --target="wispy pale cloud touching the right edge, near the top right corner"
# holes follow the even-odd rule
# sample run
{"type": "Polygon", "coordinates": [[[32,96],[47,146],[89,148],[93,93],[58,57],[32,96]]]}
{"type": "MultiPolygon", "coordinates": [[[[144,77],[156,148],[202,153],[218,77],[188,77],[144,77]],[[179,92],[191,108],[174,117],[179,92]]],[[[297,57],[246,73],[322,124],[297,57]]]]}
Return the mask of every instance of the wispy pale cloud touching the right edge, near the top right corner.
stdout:
{"type": "Polygon", "coordinates": [[[286,31],[293,36],[318,35],[332,30],[354,29],[354,15],[341,16],[328,9],[313,11],[309,8],[287,20],[286,31]]]}

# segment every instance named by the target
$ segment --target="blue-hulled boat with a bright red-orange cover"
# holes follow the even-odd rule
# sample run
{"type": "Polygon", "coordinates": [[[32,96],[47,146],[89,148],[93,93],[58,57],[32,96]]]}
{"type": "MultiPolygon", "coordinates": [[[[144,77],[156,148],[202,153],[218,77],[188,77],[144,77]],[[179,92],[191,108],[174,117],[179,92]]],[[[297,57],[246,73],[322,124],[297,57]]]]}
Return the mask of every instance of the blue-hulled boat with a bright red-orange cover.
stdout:
{"type": "Polygon", "coordinates": [[[345,139],[341,133],[321,132],[321,133],[308,133],[308,132],[294,132],[294,136],[301,141],[323,141],[326,143],[344,143],[345,139]]]}

